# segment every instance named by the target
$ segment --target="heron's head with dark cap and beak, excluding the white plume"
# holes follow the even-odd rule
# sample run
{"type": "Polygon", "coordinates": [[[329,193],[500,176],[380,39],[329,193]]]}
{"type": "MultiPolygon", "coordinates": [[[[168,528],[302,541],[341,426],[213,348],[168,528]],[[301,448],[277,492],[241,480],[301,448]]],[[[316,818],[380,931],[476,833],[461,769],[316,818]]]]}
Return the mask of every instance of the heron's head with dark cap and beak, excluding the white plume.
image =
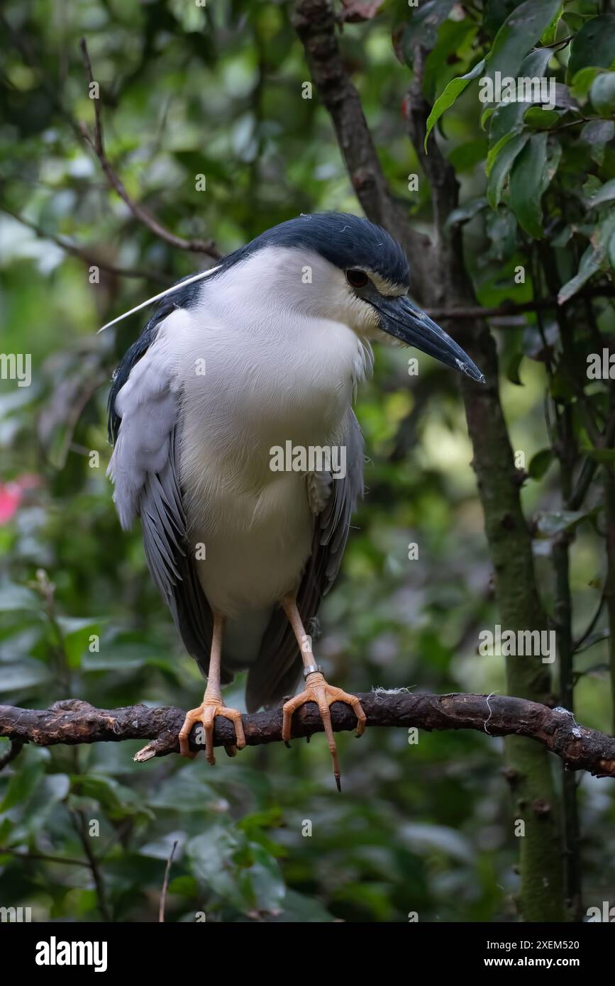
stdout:
{"type": "Polygon", "coordinates": [[[414,346],[471,377],[470,357],[408,297],[409,266],[385,230],[342,213],[302,215],[275,226],[233,255],[253,268],[254,293],[267,290],[286,308],[343,322],[369,341],[414,346]],[[250,262],[252,261],[252,262],[250,262]]]}

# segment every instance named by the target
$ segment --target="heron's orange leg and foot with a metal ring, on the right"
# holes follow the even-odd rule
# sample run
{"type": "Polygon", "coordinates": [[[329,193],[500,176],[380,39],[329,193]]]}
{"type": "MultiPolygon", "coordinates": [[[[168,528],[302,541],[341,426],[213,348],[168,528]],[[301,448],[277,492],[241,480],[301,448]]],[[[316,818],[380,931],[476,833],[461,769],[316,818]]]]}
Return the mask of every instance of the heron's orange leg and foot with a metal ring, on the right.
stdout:
{"type": "Polygon", "coordinates": [[[319,669],[315,664],[311,651],[311,642],[308,634],[306,633],[306,629],[297,607],[297,600],[295,599],[295,596],[285,596],[284,599],[281,599],[281,604],[289,618],[289,622],[291,623],[293,630],[295,631],[297,643],[299,644],[302,652],[302,658],[304,661],[304,676],[306,678],[305,691],[302,691],[299,695],[296,695],[295,698],[291,698],[283,706],[282,739],[288,745],[288,741],[291,739],[292,720],[295,710],[299,709],[300,706],[305,705],[306,702],[315,702],[320,710],[320,718],[322,719],[324,733],[329,744],[331,760],[333,761],[333,775],[335,777],[337,790],[341,791],[339,760],[337,756],[337,746],[335,744],[333,727],[331,725],[330,706],[333,702],[346,702],[347,705],[352,706],[355,715],[357,716],[358,737],[360,737],[365,731],[367,717],[357,696],[350,695],[341,688],[335,688],[333,685],[330,685],[328,681],[325,680],[321,669],[319,669]]]}

